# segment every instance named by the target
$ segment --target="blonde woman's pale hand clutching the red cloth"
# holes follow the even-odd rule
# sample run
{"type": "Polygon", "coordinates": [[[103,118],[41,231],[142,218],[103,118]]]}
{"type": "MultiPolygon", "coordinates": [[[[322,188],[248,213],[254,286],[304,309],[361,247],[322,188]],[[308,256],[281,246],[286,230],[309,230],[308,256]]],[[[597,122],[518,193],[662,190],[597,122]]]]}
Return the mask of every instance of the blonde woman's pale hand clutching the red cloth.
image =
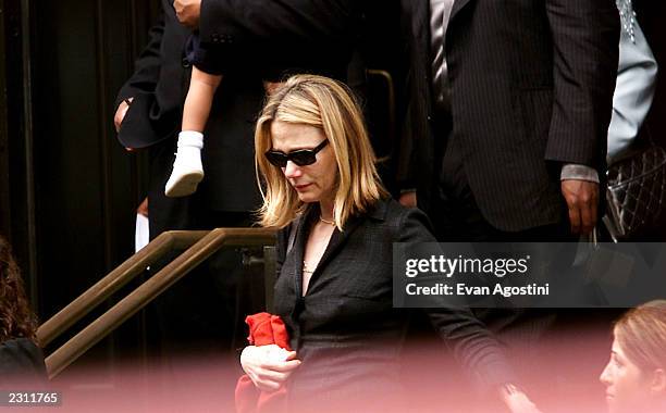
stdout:
{"type": "Polygon", "coordinates": [[[259,390],[275,391],[300,365],[295,351],[279,346],[248,346],[240,353],[240,365],[259,390]]]}

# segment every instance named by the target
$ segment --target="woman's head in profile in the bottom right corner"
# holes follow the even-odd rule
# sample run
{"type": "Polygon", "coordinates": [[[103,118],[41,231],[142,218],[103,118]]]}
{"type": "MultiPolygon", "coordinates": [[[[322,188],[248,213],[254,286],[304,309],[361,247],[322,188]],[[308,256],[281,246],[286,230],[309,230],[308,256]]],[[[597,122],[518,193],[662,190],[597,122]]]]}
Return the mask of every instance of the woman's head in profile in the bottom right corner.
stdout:
{"type": "Polygon", "coordinates": [[[613,327],[600,380],[610,413],[666,411],[666,301],[629,310],[613,327]]]}

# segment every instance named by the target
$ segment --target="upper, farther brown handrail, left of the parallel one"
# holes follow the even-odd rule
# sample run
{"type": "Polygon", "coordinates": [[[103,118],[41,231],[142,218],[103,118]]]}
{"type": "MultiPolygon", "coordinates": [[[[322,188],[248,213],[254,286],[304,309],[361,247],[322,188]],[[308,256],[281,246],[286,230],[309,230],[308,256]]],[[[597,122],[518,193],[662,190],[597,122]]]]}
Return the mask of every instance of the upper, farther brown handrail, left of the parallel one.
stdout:
{"type": "Polygon", "coordinates": [[[127,283],[141,274],[148,266],[161,260],[173,250],[192,247],[208,234],[207,230],[171,230],[160,234],[150,243],[132,255],[106,277],[88,288],[67,306],[45,322],[37,329],[37,342],[44,348],[55,337],[88,314],[127,283]]]}

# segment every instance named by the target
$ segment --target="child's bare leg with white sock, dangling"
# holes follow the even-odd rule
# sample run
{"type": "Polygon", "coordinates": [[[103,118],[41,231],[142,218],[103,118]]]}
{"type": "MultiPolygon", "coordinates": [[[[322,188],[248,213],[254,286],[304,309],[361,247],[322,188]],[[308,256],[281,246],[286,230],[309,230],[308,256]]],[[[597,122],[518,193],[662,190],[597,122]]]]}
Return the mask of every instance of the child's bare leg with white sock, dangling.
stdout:
{"type": "Polygon", "coordinates": [[[222,76],[210,75],[193,67],[189,90],[187,90],[183,108],[183,126],[178,134],[176,159],[164,187],[164,193],[168,197],[184,197],[194,193],[197,185],[203,179],[202,132],[221,79],[222,76]]]}

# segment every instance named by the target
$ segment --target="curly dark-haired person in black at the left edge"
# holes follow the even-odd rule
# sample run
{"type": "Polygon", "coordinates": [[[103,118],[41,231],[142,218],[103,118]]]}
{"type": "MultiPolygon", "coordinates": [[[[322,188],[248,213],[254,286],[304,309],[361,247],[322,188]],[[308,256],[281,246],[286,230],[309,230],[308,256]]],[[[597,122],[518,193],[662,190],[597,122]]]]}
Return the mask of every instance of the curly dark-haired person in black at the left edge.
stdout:
{"type": "Polygon", "coordinates": [[[0,386],[46,381],[36,331],[37,317],[25,296],[21,271],[10,243],[0,236],[0,386]]]}

